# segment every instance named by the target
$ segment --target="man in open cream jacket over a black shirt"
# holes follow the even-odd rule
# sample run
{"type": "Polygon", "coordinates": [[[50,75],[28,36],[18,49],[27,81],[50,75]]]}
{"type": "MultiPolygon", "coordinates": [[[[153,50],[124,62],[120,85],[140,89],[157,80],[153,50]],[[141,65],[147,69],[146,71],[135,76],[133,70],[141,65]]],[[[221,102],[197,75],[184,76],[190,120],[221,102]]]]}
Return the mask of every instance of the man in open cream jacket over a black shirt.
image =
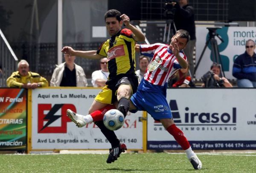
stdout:
{"type": "Polygon", "coordinates": [[[64,54],[65,62],[56,65],[53,71],[51,86],[85,87],[87,79],[81,66],[74,63],[76,57],[64,54]]]}

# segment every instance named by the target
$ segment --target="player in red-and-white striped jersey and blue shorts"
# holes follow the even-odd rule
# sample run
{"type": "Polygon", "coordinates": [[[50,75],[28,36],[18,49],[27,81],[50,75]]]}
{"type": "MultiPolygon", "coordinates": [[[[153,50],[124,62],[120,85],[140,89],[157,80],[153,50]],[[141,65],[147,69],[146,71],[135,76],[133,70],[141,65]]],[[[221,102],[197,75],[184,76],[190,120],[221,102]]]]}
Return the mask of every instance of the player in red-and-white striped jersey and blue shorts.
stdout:
{"type": "Polygon", "coordinates": [[[186,152],[194,169],[201,169],[202,163],[193,152],[184,133],[175,125],[172,112],[166,100],[167,82],[180,68],[187,68],[186,56],[180,52],[189,41],[189,33],[178,30],[170,45],[156,43],[136,45],[140,53],[152,57],[138,90],[131,96],[130,112],[147,111],[175,138],[186,152]]]}

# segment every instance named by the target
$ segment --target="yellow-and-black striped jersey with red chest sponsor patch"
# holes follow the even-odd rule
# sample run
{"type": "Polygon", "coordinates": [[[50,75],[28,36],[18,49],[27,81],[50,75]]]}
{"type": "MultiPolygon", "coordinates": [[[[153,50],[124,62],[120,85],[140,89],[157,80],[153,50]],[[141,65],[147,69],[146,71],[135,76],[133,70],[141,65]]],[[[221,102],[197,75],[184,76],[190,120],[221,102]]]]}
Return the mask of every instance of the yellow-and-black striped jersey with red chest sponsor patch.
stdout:
{"type": "Polygon", "coordinates": [[[135,74],[135,44],[133,33],[122,29],[102,43],[97,54],[108,58],[109,79],[119,74],[135,74]]]}

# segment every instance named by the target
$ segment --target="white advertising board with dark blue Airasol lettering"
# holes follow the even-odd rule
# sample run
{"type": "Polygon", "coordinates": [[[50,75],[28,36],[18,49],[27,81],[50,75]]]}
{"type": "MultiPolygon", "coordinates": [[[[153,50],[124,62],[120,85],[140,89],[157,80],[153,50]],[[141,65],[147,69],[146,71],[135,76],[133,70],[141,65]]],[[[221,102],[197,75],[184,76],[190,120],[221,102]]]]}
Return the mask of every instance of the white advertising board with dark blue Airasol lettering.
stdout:
{"type": "MultiPolygon", "coordinates": [[[[167,90],[175,124],[194,149],[256,149],[256,90],[167,90]]],[[[181,149],[160,122],[148,116],[147,149],[181,149]]]]}

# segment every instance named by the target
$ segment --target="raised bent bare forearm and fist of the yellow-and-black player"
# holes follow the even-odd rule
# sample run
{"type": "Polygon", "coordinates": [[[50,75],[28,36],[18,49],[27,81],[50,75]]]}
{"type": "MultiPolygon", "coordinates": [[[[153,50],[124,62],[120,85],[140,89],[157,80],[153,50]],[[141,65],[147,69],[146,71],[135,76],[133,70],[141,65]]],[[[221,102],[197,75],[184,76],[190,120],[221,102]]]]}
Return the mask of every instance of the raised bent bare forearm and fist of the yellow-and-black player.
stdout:
{"type": "Polygon", "coordinates": [[[125,26],[133,32],[133,38],[135,41],[145,41],[145,35],[138,28],[131,25],[130,18],[126,14],[122,14],[120,17],[125,26]]]}

